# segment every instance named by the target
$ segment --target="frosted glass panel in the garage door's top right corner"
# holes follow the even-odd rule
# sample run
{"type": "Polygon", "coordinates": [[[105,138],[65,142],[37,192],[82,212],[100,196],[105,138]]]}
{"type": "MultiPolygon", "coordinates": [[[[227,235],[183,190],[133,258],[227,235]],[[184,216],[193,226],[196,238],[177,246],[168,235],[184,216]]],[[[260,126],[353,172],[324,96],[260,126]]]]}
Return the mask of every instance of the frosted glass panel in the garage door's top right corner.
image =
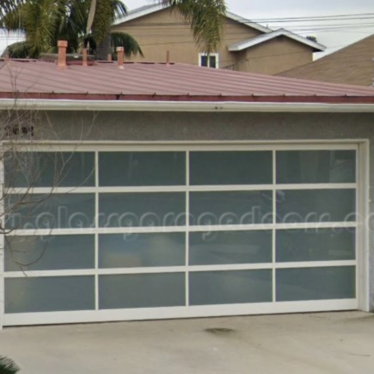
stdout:
{"type": "Polygon", "coordinates": [[[355,150],[277,151],[277,183],[354,183],[355,150]]]}

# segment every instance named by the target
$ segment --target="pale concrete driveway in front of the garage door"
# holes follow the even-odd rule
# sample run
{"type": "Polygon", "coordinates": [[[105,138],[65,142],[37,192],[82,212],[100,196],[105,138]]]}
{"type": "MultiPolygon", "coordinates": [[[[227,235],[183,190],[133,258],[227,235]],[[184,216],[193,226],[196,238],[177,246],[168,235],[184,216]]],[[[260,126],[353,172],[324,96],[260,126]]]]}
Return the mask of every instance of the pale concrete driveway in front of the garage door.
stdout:
{"type": "Polygon", "coordinates": [[[22,374],[374,373],[361,312],[6,328],[22,374]],[[211,330],[209,330],[211,329],[211,330]]]}

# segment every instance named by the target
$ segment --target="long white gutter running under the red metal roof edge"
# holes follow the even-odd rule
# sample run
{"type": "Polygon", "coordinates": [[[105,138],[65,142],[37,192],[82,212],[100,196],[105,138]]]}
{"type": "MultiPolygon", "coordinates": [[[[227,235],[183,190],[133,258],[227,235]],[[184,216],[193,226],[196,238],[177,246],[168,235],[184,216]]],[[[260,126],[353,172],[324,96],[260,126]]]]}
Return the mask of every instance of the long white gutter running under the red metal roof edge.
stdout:
{"type": "Polygon", "coordinates": [[[140,112],[374,112],[371,104],[266,103],[235,101],[122,101],[0,99],[0,110],[140,112]]]}

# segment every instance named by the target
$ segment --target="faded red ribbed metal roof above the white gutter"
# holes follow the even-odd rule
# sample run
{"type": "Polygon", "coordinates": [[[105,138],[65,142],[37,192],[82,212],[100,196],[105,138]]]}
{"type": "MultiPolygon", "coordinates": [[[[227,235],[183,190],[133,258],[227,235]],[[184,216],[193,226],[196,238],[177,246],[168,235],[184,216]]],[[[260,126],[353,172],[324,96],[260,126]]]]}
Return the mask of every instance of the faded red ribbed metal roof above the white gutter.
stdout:
{"type": "Polygon", "coordinates": [[[98,62],[58,70],[39,60],[2,61],[0,97],[374,103],[374,89],[185,64],[98,62]]]}

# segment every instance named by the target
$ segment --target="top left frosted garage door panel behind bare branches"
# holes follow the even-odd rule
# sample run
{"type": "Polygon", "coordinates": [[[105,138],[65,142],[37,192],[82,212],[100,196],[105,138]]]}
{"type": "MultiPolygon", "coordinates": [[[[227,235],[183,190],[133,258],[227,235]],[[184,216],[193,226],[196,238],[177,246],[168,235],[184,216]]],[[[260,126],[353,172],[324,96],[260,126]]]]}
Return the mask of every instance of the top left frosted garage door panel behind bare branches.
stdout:
{"type": "Polygon", "coordinates": [[[93,152],[18,152],[4,165],[8,187],[95,185],[93,152]]]}

